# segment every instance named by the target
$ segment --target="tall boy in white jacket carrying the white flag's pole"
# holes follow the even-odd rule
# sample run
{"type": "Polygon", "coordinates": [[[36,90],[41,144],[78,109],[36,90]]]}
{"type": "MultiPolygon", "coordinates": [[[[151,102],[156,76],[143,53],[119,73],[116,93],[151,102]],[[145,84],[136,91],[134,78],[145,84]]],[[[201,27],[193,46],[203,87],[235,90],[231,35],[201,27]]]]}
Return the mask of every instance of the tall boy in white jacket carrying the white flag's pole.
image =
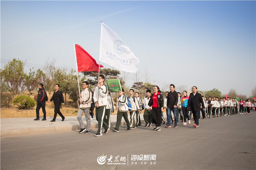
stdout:
{"type": "Polygon", "coordinates": [[[103,121],[106,106],[107,106],[107,85],[104,85],[105,77],[99,75],[99,83],[97,84],[93,99],[95,102],[95,115],[98,121],[98,131],[94,136],[102,136],[102,127],[105,129],[104,133],[108,132],[108,124],[103,121]]]}

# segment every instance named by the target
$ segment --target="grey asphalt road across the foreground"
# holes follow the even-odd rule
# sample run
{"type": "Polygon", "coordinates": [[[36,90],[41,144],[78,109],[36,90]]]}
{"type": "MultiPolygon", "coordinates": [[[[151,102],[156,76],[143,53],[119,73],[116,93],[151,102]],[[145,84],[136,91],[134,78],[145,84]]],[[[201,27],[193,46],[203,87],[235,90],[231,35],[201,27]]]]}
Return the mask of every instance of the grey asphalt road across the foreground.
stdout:
{"type": "Polygon", "coordinates": [[[153,127],[127,132],[122,126],[119,133],[101,137],[76,131],[1,137],[1,169],[255,170],[255,120],[252,112],[201,119],[196,129],[179,123],[178,128],[162,126],[158,132],[153,127]],[[137,160],[141,154],[142,160],[137,160]],[[106,162],[100,165],[97,158],[103,155],[106,162]],[[123,164],[107,164],[111,155],[110,163],[123,164]],[[153,155],[155,160],[147,160],[153,155]]]}

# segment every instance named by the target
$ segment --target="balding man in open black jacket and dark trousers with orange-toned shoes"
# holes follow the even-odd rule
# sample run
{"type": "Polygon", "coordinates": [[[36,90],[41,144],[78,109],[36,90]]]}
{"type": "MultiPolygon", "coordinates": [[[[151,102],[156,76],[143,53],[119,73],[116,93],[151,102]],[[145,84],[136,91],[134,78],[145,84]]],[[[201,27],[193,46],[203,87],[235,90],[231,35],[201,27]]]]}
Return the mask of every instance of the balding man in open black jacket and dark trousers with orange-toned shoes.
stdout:
{"type": "Polygon", "coordinates": [[[190,93],[189,101],[188,101],[188,109],[192,110],[193,117],[195,123],[193,124],[194,128],[197,128],[199,126],[199,118],[200,118],[200,110],[201,105],[202,109],[205,110],[202,95],[200,93],[197,93],[197,87],[192,87],[192,93],[190,93]]]}

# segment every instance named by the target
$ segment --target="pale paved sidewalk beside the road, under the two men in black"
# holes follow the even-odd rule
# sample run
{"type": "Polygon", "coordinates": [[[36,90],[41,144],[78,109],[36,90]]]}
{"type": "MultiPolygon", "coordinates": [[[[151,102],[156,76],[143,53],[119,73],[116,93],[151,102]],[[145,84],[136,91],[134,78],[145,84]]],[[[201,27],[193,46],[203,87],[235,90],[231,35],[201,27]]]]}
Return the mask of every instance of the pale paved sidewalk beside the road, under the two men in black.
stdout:
{"type": "MultiPolygon", "coordinates": [[[[111,127],[116,125],[117,115],[111,115],[111,127]]],[[[13,136],[13,135],[26,135],[26,134],[39,134],[49,132],[61,132],[61,131],[74,131],[80,130],[80,125],[76,116],[65,116],[65,120],[62,122],[61,117],[57,116],[56,122],[50,122],[53,117],[46,117],[46,121],[41,121],[43,117],[40,117],[39,121],[34,121],[36,117],[28,118],[1,118],[1,134],[0,136],[13,136]]],[[[85,116],[82,117],[85,128],[87,128],[85,116]]],[[[140,114],[142,125],[144,124],[143,113],[140,114]]],[[[136,116],[135,116],[136,121],[136,116]]],[[[121,125],[126,125],[124,118],[122,118],[121,125]]],[[[91,120],[91,128],[98,128],[98,122],[94,115],[91,120]]]]}

